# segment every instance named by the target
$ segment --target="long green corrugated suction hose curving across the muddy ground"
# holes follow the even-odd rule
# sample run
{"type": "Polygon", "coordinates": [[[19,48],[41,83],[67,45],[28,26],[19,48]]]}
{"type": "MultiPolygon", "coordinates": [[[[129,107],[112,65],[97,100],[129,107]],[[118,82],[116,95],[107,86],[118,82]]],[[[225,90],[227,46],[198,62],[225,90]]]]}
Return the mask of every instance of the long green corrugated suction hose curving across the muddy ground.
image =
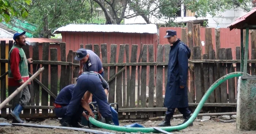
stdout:
{"type": "MultiPolygon", "coordinates": [[[[199,114],[200,110],[202,109],[204,103],[206,102],[206,100],[208,99],[208,97],[210,96],[212,91],[215,90],[215,88],[217,88],[221,83],[223,83],[227,79],[231,79],[231,78],[234,78],[234,77],[239,77],[239,76],[242,76],[242,75],[243,75],[243,72],[232,72],[230,74],[227,74],[227,75],[221,77],[216,82],[214,82],[211,85],[211,87],[207,90],[207,92],[204,94],[202,100],[199,102],[198,106],[196,107],[195,112],[192,114],[191,118],[189,118],[189,120],[186,123],[184,123],[182,125],[179,125],[179,126],[161,127],[161,129],[165,130],[165,131],[168,131],[168,132],[171,132],[171,131],[179,131],[179,130],[187,128],[196,119],[196,117],[199,114]]],[[[103,129],[108,129],[108,130],[124,131],[124,132],[130,132],[130,133],[131,132],[133,132],[133,133],[136,133],[136,132],[158,133],[158,131],[156,131],[152,127],[135,128],[135,127],[114,126],[114,125],[109,125],[109,124],[99,122],[99,121],[95,120],[93,117],[90,117],[89,121],[95,126],[101,127],[103,129]]]]}

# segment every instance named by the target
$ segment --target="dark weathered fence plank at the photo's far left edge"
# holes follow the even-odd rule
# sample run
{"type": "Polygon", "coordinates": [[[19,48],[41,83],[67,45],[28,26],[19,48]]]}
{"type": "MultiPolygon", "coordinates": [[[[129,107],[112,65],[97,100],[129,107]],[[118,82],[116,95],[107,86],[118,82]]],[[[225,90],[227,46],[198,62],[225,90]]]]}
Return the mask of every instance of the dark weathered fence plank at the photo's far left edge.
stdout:
{"type": "MultiPolygon", "coordinates": [[[[5,59],[5,41],[0,41],[0,57],[1,59],[5,59]]],[[[5,73],[5,63],[0,63],[1,71],[0,74],[3,75],[5,73]]],[[[6,99],[6,77],[1,79],[1,102],[6,99]]],[[[6,109],[1,109],[1,117],[7,117],[6,109]]]]}

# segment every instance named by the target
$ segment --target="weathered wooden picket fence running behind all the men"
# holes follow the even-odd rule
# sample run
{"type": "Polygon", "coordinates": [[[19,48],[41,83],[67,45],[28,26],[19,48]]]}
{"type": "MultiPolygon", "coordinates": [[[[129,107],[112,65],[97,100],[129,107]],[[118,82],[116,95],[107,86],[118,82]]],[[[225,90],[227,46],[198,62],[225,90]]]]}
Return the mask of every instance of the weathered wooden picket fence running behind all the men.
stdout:
{"type": "MultiPolygon", "coordinates": [[[[201,46],[190,44],[189,40],[191,38],[187,36],[185,31],[184,35],[181,36],[181,40],[185,43],[188,42],[188,46],[192,50],[192,56],[189,59],[188,95],[189,106],[194,110],[212,83],[230,72],[240,71],[240,47],[236,47],[236,60],[233,60],[231,51],[234,50],[231,50],[231,48],[219,48],[218,42],[216,42],[218,51],[215,52],[212,49],[212,45],[209,45],[206,53],[202,55],[201,46]]],[[[69,50],[66,56],[65,43],[59,44],[60,50],[50,48],[50,43],[42,43],[41,61],[38,60],[38,45],[38,43],[35,43],[34,46],[25,46],[23,48],[27,58],[30,58],[31,49],[29,47],[32,47],[33,50],[32,58],[34,62],[30,66],[33,71],[30,72],[30,76],[38,70],[39,66],[45,67],[41,76],[33,80],[30,85],[31,99],[29,105],[23,110],[23,114],[20,115],[23,118],[54,117],[52,103],[58,92],[64,86],[71,84],[72,78],[78,77],[79,62],[74,60],[76,54],[69,50]],[[61,55],[61,61],[57,61],[58,51],[61,55]],[[58,70],[61,72],[59,80],[58,70]]],[[[164,89],[167,83],[166,68],[170,46],[168,44],[159,44],[156,53],[154,53],[152,44],[139,45],[132,44],[130,50],[129,44],[121,44],[117,55],[116,44],[110,44],[109,52],[106,49],[107,44],[81,44],[81,48],[93,50],[97,55],[102,56],[105,70],[104,78],[108,81],[110,87],[108,100],[109,103],[118,103],[120,119],[143,119],[162,116],[166,111],[166,108],[163,107],[163,95],[165,94],[164,89]],[[137,59],[139,45],[141,45],[140,48],[142,49],[140,49],[139,59],[137,59]],[[108,53],[110,53],[109,62],[108,53]]],[[[8,62],[6,46],[10,50],[12,43],[1,41],[1,102],[11,94],[11,92],[8,92],[7,76],[5,76],[8,62]]],[[[248,73],[255,75],[255,49],[251,50],[251,54],[251,60],[248,61],[248,73]]],[[[31,68],[29,70],[32,70],[31,68]]],[[[218,86],[207,99],[202,112],[236,111],[236,87],[236,78],[229,79],[218,86]]],[[[10,108],[11,103],[1,110],[1,117],[7,117],[8,113],[10,113],[10,108]]]]}

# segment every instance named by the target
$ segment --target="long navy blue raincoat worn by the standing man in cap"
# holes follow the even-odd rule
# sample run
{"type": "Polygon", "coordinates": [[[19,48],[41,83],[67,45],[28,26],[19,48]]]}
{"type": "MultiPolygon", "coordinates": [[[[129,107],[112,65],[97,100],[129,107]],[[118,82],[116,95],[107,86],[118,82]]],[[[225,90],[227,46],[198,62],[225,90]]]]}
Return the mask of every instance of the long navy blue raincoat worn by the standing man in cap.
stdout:
{"type": "Polygon", "coordinates": [[[171,46],[164,100],[167,108],[188,107],[187,77],[190,56],[191,50],[179,39],[171,46]]]}

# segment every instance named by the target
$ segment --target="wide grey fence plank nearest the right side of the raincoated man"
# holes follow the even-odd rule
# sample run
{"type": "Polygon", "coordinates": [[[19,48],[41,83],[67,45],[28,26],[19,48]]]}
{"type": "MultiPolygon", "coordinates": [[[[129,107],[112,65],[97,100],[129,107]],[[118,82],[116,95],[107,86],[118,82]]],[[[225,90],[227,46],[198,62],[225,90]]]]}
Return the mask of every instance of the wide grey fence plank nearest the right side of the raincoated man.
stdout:
{"type": "MultiPolygon", "coordinates": [[[[193,47],[193,59],[201,59],[201,48],[200,46],[193,47]]],[[[202,80],[202,72],[201,72],[201,63],[194,64],[195,70],[195,87],[196,87],[196,102],[200,102],[203,97],[203,83],[200,82],[202,80]]]]}

